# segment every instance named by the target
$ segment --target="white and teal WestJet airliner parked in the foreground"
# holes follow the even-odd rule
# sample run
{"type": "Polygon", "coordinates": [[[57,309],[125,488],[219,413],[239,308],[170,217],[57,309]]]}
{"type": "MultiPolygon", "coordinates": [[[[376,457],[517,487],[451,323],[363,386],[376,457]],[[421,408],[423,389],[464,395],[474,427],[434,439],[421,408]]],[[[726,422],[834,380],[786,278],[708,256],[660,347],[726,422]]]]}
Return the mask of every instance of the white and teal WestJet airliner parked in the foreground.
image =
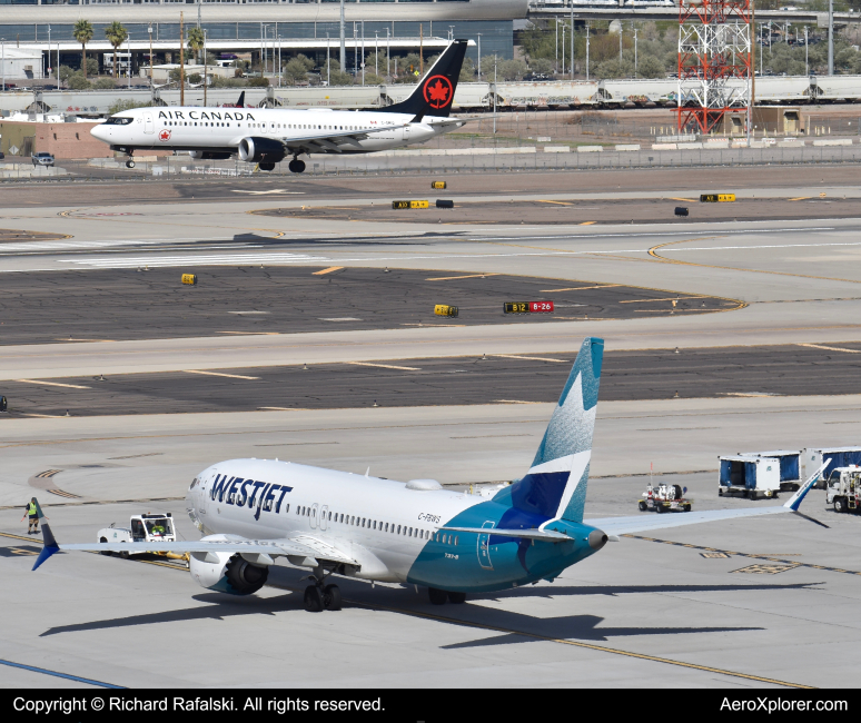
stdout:
{"type": "MultiPolygon", "coordinates": [[[[553,582],[618,535],[754,515],[798,513],[819,473],[782,506],[584,521],[604,341],[587,338],[528,473],[479,495],[434,479],[407,483],[271,459],[231,459],[204,469],[186,496],[199,542],[58,544],[42,518],[39,567],[59,551],[190,555],[202,587],[249,595],[278,557],[310,568],[311,612],[338,610],[335,575],[423,585],[430,602],[471,592],[553,582]]],[[[821,524],[821,523],[820,523],[821,524]]]]}

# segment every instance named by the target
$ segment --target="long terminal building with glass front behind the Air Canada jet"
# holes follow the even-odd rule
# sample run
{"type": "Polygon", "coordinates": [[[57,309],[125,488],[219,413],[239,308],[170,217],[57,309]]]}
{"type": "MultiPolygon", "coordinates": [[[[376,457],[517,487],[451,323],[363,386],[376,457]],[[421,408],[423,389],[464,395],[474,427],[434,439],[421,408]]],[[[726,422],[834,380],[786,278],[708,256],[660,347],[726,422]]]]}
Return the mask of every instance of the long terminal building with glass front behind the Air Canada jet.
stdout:
{"type": "MultiPolygon", "coordinates": [[[[355,48],[364,48],[365,55],[375,48],[388,48],[395,56],[416,52],[424,46],[428,56],[439,52],[449,38],[474,40],[476,44],[468,51],[474,62],[479,46],[483,56],[511,58],[514,20],[524,19],[528,10],[528,0],[353,0],[344,4],[348,68],[353,65],[355,48]]],[[[81,46],[72,34],[79,19],[89,20],[95,28],[93,38],[87,43],[90,57],[112,52],[105,29],[113,21],[122,23],[129,39],[121,50],[132,53],[136,66],[137,59],[149,52],[150,42],[157,57],[178,52],[180,12],[187,29],[196,26],[199,18],[206,31],[207,49],[215,53],[268,55],[280,46],[287,57],[296,52],[324,57],[328,47],[337,58],[340,38],[340,3],[330,0],[198,3],[0,0],[0,42],[10,48],[41,48],[43,71],[56,65],[58,52],[60,65],[80,63],[81,46]]],[[[33,77],[44,77],[44,72],[37,70],[33,77]]]]}

